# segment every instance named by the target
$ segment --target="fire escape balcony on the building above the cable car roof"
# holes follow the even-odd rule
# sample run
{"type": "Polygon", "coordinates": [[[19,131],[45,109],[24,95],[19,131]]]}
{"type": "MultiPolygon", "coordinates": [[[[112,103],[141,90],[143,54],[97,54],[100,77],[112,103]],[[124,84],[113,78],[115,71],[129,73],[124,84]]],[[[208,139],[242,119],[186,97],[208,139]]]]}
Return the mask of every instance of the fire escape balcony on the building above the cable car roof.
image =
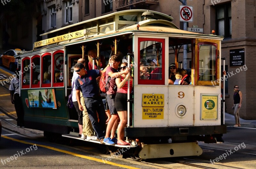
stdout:
{"type": "Polygon", "coordinates": [[[158,0],[116,0],[116,11],[148,9],[150,5],[154,4],[159,4],[158,0]]]}

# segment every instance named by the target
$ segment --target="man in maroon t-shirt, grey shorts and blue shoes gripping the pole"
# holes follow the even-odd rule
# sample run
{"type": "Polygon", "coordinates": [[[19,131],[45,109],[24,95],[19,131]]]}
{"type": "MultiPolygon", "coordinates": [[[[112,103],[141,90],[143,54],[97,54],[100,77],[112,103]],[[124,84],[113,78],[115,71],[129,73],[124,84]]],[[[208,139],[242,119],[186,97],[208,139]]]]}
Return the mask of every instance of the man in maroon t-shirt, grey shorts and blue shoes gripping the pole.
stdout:
{"type": "Polygon", "coordinates": [[[114,144],[117,142],[117,139],[115,137],[116,129],[119,122],[119,117],[115,108],[115,97],[116,97],[116,77],[120,76],[121,74],[124,74],[125,72],[130,72],[130,68],[126,68],[125,71],[120,72],[118,69],[118,65],[120,64],[120,57],[118,55],[112,55],[111,56],[111,66],[107,67],[106,69],[106,80],[109,79],[108,82],[108,90],[107,90],[107,102],[109,111],[111,114],[111,117],[108,121],[108,126],[106,129],[106,135],[104,139],[104,143],[107,144],[114,144]],[[111,132],[111,135],[110,135],[111,132]]]}

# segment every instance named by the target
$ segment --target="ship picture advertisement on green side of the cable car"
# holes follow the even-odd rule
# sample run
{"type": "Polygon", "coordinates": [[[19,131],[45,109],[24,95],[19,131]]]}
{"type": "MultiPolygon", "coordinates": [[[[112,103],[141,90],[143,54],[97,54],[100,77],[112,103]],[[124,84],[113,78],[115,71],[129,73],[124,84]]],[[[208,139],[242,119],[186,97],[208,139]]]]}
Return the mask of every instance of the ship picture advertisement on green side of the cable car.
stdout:
{"type": "Polygon", "coordinates": [[[57,109],[54,89],[28,90],[28,104],[30,108],[57,109]]]}

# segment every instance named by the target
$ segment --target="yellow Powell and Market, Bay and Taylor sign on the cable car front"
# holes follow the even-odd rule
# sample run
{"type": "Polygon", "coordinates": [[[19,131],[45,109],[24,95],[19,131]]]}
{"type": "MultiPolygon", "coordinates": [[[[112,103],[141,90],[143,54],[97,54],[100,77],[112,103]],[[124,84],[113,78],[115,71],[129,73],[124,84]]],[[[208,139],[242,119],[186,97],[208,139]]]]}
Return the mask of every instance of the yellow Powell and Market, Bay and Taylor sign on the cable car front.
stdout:
{"type": "Polygon", "coordinates": [[[164,94],[142,94],[142,119],[164,119],[164,94]]]}

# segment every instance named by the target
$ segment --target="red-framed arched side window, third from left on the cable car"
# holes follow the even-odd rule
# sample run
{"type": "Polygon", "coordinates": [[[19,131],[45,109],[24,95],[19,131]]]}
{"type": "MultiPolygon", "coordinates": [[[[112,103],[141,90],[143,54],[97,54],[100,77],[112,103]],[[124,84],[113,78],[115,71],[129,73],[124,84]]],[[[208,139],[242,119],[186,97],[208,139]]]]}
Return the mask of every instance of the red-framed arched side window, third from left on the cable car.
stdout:
{"type": "Polygon", "coordinates": [[[51,53],[44,53],[42,55],[42,87],[51,87],[52,79],[52,55],[51,53]]]}

